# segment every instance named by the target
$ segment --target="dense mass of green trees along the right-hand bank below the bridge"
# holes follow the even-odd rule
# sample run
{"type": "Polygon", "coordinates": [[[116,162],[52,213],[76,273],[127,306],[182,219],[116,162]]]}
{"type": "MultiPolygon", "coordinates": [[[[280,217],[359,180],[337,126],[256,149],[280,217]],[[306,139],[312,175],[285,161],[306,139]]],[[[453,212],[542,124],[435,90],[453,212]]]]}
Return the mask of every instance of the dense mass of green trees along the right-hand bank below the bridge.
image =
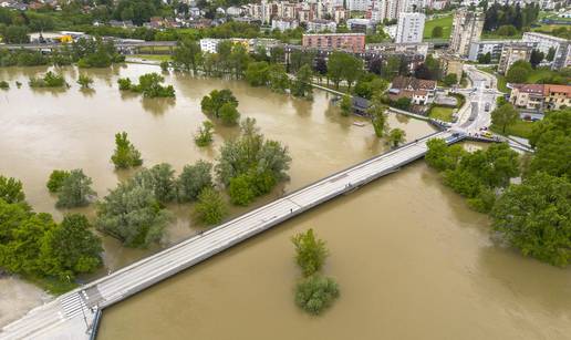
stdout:
{"type": "Polygon", "coordinates": [[[506,243],[554,266],[571,259],[571,110],[550,112],[536,123],[532,156],[520,159],[505,144],[467,153],[459,145],[430,141],[426,162],[444,181],[489,213],[506,243]],[[521,184],[510,178],[522,177],[521,184]]]}

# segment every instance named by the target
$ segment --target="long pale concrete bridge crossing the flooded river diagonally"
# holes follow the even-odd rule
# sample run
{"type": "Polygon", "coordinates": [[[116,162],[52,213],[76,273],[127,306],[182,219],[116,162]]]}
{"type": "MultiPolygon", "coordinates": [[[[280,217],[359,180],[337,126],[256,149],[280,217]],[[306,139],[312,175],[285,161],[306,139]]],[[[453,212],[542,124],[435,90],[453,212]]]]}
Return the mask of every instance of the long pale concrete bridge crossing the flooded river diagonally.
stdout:
{"type": "Polygon", "coordinates": [[[62,295],[6,326],[0,339],[93,339],[101,310],[336,196],[350,193],[424,157],[426,142],[459,142],[463,134],[436,132],[332,174],[204,231],[156,255],[62,295]]]}

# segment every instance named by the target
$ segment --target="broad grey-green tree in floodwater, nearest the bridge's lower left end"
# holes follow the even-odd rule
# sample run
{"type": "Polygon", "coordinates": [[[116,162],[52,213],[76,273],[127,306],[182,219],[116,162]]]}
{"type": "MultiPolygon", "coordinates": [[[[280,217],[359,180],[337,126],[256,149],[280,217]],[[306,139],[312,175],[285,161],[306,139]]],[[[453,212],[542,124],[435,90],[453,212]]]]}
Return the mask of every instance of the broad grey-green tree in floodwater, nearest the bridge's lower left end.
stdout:
{"type": "Polygon", "coordinates": [[[150,189],[127,181],[97,203],[95,226],[127,247],[147,247],[160,240],[172,218],[150,189]]]}

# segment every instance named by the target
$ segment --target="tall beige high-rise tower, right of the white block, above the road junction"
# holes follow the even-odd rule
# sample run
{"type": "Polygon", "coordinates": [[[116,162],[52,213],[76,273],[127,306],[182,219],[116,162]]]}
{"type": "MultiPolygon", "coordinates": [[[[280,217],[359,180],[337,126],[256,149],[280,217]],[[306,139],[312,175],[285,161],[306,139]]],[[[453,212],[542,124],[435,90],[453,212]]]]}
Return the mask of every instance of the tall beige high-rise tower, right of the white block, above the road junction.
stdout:
{"type": "Polygon", "coordinates": [[[470,44],[480,40],[484,29],[484,13],[458,9],[454,14],[453,32],[450,35],[450,52],[467,56],[470,44]]]}

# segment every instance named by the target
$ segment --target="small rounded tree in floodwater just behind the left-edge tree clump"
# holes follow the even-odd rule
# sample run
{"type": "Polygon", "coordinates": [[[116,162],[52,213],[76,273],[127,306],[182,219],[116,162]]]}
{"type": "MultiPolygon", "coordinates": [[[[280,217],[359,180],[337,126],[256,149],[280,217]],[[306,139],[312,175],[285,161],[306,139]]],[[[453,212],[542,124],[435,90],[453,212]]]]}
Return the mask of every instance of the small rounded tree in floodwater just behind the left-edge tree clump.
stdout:
{"type": "Polygon", "coordinates": [[[91,177],[85,176],[81,168],[70,172],[62,181],[58,190],[58,202],[55,206],[59,208],[74,208],[86,206],[96,195],[91,188],[91,177]]]}

